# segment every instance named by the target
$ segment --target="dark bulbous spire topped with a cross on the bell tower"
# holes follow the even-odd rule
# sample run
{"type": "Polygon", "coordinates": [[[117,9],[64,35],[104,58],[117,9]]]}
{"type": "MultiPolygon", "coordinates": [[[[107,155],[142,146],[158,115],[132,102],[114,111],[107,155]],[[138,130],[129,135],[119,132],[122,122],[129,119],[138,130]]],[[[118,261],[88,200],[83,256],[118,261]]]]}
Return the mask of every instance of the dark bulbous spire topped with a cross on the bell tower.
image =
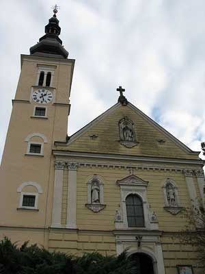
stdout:
{"type": "Polygon", "coordinates": [[[68,51],[62,46],[62,41],[59,38],[61,28],[57,19],[57,9],[59,6],[53,7],[53,17],[49,19],[49,24],[45,26],[45,35],[39,39],[39,42],[30,48],[31,55],[67,58],[68,51]]]}

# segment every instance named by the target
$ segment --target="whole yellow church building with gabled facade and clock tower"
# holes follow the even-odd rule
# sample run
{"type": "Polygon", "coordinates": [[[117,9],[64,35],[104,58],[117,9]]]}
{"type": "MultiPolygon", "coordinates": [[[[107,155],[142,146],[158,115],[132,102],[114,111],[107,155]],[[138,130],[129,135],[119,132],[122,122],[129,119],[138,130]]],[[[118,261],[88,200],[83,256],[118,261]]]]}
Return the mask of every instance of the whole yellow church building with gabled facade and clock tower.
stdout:
{"type": "Polygon", "coordinates": [[[21,55],[0,170],[0,237],[77,256],[126,249],[136,274],[204,273],[178,237],[183,209],[204,199],[200,152],[136,108],[121,86],[109,110],[69,136],[74,60],[56,13],[21,55]]]}

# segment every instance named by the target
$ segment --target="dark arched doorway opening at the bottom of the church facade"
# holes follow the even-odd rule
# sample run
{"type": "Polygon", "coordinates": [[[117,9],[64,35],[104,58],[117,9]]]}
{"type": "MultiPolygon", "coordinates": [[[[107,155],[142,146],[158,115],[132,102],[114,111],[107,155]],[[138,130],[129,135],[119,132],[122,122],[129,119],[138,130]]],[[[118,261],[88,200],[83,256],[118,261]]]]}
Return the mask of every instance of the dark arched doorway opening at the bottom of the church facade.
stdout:
{"type": "Polygon", "coordinates": [[[153,260],[148,254],[142,252],[132,253],[129,258],[136,263],[135,274],[155,274],[153,260]]]}

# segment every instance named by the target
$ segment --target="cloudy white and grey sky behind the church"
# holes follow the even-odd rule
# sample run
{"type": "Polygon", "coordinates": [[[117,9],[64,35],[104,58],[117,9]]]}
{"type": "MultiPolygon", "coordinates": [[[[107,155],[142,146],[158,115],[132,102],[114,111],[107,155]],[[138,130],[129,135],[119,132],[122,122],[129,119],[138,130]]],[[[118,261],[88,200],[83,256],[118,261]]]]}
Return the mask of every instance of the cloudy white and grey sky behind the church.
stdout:
{"type": "Polygon", "coordinates": [[[126,98],[193,150],[205,140],[204,0],[7,0],[1,3],[0,159],[20,73],[57,13],[75,59],[68,135],[126,98]]]}

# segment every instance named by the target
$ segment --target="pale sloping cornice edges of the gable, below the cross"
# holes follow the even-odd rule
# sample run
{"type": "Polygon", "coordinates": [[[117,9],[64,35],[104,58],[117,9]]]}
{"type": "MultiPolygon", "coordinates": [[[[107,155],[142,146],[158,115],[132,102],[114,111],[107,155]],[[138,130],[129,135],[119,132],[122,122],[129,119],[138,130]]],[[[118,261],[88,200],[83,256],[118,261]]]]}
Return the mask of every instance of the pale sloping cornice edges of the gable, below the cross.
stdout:
{"type": "MultiPolygon", "coordinates": [[[[94,119],[93,121],[91,121],[90,123],[88,123],[87,125],[85,125],[85,127],[79,129],[78,132],[72,134],[72,136],[70,136],[68,142],[55,142],[55,145],[63,145],[63,146],[71,145],[72,142],[74,142],[75,140],[77,140],[85,132],[87,132],[92,127],[94,127],[99,121],[102,121],[107,116],[109,116],[109,114],[111,114],[112,112],[114,112],[115,110],[117,110],[120,107],[121,107],[121,103],[116,103],[111,108],[109,108],[109,110],[106,110],[105,112],[103,112],[102,114],[100,114],[100,116],[98,116],[96,119],[94,119]]],[[[189,147],[187,147],[186,145],[184,145],[182,142],[180,142],[180,140],[178,140],[172,134],[170,134],[169,132],[167,132],[166,129],[164,129],[163,127],[161,127],[161,125],[159,125],[158,123],[156,123],[155,121],[153,121],[150,117],[148,117],[146,114],[144,114],[143,112],[141,112],[141,110],[139,110],[138,108],[136,108],[135,105],[133,105],[132,103],[128,102],[128,104],[126,105],[126,107],[131,108],[131,110],[134,110],[134,112],[136,112],[139,116],[141,116],[141,118],[143,118],[150,125],[152,125],[156,129],[158,129],[159,132],[161,132],[164,136],[166,136],[167,138],[169,138],[169,140],[172,140],[172,142],[174,142],[183,151],[185,151],[187,153],[195,153],[195,154],[199,154],[200,153],[200,151],[192,151],[191,149],[189,149],[189,147]]]]}

